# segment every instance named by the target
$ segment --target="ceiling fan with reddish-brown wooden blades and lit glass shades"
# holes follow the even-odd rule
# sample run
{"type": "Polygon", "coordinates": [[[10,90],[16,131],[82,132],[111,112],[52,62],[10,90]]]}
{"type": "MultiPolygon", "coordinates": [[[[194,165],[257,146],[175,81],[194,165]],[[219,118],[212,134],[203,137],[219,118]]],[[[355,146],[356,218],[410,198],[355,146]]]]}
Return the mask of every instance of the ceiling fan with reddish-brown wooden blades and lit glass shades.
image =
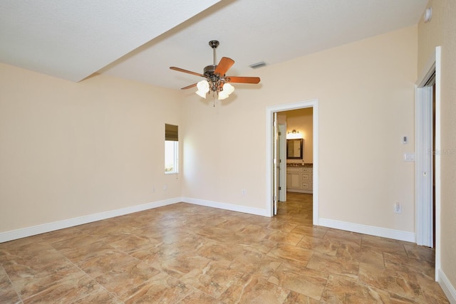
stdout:
{"type": "Polygon", "coordinates": [[[202,98],[206,98],[206,94],[210,90],[213,93],[217,93],[219,100],[223,100],[234,91],[234,87],[229,83],[259,83],[259,77],[226,76],[225,73],[227,73],[227,70],[232,67],[234,60],[228,57],[222,57],[217,65],[215,61],[215,49],[219,46],[219,41],[209,41],[209,46],[212,48],[214,53],[214,64],[207,65],[202,74],[195,73],[190,70],[184,70],[183,68],[176,68],[175,66],[170,67],[171,70],[177,70],[179,72],[205,78],[204,80],[199,81],[199,83],[187,85],[182,88],[182,90],[187,90],[196,86],[198,88],[196,93],[202,98]]]}

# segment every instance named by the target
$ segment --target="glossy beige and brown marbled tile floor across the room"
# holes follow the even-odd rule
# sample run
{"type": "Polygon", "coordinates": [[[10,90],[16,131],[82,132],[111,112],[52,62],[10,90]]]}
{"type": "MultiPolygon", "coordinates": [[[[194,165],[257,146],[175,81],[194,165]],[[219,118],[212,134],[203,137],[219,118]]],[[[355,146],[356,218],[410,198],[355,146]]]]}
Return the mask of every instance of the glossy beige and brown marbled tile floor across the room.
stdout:
{"type": "Polygon", "coordinates": [[[0,243],[0,303],[448,303],[434,251],[192,204],[0,243]]]}

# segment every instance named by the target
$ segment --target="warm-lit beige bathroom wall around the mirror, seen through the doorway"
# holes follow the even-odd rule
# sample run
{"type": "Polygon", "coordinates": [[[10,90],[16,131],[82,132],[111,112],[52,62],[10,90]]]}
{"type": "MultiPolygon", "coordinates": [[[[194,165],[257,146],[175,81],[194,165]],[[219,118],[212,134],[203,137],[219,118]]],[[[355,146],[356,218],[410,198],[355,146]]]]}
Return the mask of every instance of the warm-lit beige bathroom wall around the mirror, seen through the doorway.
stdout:
{"type": "MultiPolygon", "coordinates": [[[[304,108],[299,110],[285,111],[286,115],[286,132],[297,130],[304,138],[304,162],[314,162],[314,125],[313,108],[304,108]]],[[[301,162],[295,159],[289,159],[287,162],[301,162]]]]}

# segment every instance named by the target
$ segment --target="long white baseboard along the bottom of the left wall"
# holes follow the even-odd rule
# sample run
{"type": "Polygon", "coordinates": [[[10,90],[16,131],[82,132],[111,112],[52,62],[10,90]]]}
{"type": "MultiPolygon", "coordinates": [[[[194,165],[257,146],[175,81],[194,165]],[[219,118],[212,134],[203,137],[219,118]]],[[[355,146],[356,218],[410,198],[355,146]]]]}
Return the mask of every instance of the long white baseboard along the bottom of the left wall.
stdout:
{"type": "Polygon", "coordinates": [[[0,243],[6,241],[12,241],[16,239],[22,239],[27,236],[35,236],[36,234],[44,234],[49,231],[58,229],[64,229],[68,227],[78,226],[82,224],[91,223],[93,221],[100,221],[102,219],[110,219],[115,216],[121,216],[125,214],[131,214],[138,211],[144,211],[147,209],[153,209],[161,206],[167,206],[170,204],[179,203],[182,201],[181,197],[174,199],[165,199],[162,201],[153,201],[147,204],[140,204],[136,206],[125,207],[121,209],[115,209],[111,211],[100,212],[98,214],[89,214],[86,216],[78,216],[73,219],[64,219],[62,221],[53,221],[52,223],[46,223],[22,229],[0,232],[0,243]]]}

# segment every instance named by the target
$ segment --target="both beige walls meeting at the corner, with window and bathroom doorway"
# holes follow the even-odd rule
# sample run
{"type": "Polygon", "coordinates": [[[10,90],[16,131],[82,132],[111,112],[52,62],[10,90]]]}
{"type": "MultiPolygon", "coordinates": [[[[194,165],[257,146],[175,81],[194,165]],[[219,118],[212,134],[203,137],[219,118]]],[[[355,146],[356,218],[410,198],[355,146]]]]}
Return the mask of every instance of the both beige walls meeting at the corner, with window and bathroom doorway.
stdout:
{"type": "Polygon", "coordinates": [[[413,232],[403,153],[417,44],[413,26],[252,70],[261,84],[215,107],[190,91],[0,65],[0,231],[181,195],[265,209],[266,107],[318,98],[320,216],[413,232]],[[163,174],[165,122],[180,125],[179,179],[163,174]]]}

